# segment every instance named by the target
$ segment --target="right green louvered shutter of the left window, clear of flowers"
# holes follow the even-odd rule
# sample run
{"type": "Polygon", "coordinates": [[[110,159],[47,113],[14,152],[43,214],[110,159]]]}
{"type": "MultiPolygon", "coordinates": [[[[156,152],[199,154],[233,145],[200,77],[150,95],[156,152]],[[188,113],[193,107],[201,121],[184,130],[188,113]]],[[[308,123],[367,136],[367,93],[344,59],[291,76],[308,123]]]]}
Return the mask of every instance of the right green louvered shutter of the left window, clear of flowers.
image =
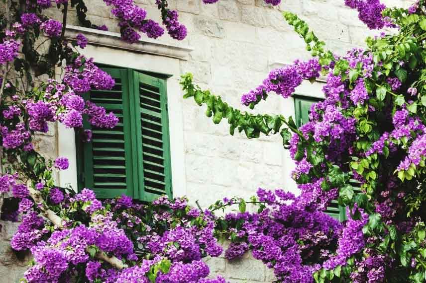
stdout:
{"type": "Polygon", "coordinates": [[[164,79],[133,72],[138,198],[172,196],[167,91],[164,79]]]}

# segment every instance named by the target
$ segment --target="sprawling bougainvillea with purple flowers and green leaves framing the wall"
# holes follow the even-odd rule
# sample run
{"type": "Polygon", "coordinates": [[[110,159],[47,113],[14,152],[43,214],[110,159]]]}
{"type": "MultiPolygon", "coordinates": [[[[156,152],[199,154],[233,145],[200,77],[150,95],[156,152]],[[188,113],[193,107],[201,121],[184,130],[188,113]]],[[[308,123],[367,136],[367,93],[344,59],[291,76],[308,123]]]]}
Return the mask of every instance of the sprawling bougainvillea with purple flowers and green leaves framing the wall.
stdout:
{"type": "MultiPolygon", "coordinates": [[[[217,0],[203,0],[206,4],[217,0]]],[[[75,47],[84,35],[65,40],[68,5],[80,24],[105,30],[87,19],[83,0],[5,0],[0,9],[0,193],[18,201],[4,206],[2,219],[20,221],[11,240],[16,251],[30,251],[26,283],[224,283],[209,278],[205,256],[223,251],[228,260],[251,250],[273,269],[277,282],[424,282],[426,277],[426,7],[386,8],[378,0],[346,0],[370,28],[398,28],[368,38],[366,50],[338,56],[292,13],[284,18],[307,43],[313,58],[272,71],[241,102],[251,108],[271,92],[290,97],[304,79],[327,75],[325,100],[315,104],[310,122],[296,127],[282,115],[252,115],[230,107],[220,97],[184,75],[185,97],[207,104],[213,122],[223,118],[248,138],[280,133],[296,162],[292,178],[299,195],[259,189],[250,200],[223,199],[202,211],[187,199],[161,197],[151,204],[122,196],[98,200],[83,189],[55,186],[54,170],[68,160],[46,160],[33,148],[36,133],[49,123],[82,131],[83,119],[113,128],[112,113],[85,101],[91,89],[110,89],[113,79],[75,47]],[[43,13],[56,4],[63,21],[43,13]],[[47,44],[47,53],[39,47],[47,44]],[[55,68],[63,76],[54,76],[55,68]],[[354,192],[349,178],[362,192],[354,192]],[[347,220],[325,214],[332,200],[346,207],[347,220]],[[247,212],[246,204],[257,210],[247,212]],[[215,216],[238,206],[238,212],[215,216]]],[[[164,29],[146,19],[132,0],[104,0],[118,19],[122,39],[131,44],[140,33],[157,38],[164,29]]],[[[277,5],[280,0],[265,0],[277,5]]],[[[185,38],[178,13],[157,0],[169,35],[185,38]]],[[[86,142],[91,133],[85,132],[86,142]]],[[[0,202],[0,203],[1,203],[0,202]]]]}

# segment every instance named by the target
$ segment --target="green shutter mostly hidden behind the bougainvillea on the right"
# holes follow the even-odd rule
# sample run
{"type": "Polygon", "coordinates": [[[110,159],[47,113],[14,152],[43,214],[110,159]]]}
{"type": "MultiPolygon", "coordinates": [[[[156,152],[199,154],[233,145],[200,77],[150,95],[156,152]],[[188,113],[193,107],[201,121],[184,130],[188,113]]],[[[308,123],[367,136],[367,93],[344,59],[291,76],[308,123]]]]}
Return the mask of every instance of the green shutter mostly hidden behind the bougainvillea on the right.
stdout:
{"type": "MultiPolygon", "coordinates": [[[[295,102],[295,116],[296,116],[296,125],[298,127],[309,122],[309,112],[311,106],[314,103],[321,101],[321,99],[316,98],[306,98],[296,96],[294,98],[295,102]]],[[[343,221],[346,219],[345,209],[340,207],[337,201],[331,201],[331,204],[327,207],[325,213],[331,215],[332,217],[343,221]]]]}

